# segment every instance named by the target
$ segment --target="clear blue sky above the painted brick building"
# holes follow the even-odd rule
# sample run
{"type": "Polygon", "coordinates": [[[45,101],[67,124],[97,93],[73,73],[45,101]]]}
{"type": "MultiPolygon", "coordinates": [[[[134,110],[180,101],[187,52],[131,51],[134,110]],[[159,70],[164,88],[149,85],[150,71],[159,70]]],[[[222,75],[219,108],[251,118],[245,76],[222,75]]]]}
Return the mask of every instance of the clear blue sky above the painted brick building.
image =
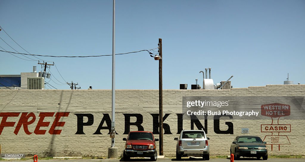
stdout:
{"type": "MultiPolygon", "coordinates": [[[[31,54],[89,56],[112,54],[112,0],[0,0],[0,26],[31,54]]],[[[116,0],[116,53],[157,48],[163,41],[163,89],[179,89],[212,68],[214,83],[231,75],[233,87],[305,83],[305,1],[116,0]]],[[[27,53],[4,32],[0,37],[27,53]]],[[[0,40],[6,51],[14,51],[0,40]]],[[[2,49],[1,49],[2,50],[2,49]]],[[[21,55],[18,57],[25,58],[21,55]]],[[[38,60],[33,56],[27,56],[38,60]]],[[[51,58],[57,89],[65,82],[82,89],[111,89],[111,56],[51,58]],[[59,81],[57,81],[59,80],[59,81]],[[61,82],[61,83],[59,83],[61,82]]],[[[41,70],[0,52],[0,74],[41,70]]],[[[116,56],[116,89],[158,89],[158,61],[147,52],[116,56]]],[[[48,89],[50,89],[47,86],[48,89]]],[[[53,87],[51,87],[54,89],[53,87]]]]}

